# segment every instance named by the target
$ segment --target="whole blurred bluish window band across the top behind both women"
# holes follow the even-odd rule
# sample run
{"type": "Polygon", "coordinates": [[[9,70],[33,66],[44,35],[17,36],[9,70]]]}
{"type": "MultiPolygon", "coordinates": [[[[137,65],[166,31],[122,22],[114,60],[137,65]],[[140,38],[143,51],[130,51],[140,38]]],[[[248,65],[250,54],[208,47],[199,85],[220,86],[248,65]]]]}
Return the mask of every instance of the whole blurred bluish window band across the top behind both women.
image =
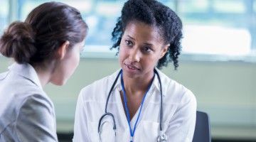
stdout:
{"type": "MultiPolygon", "coordinates": [[[[23,21],[33,8],[50,0],[16,0],[16,19],[23,21]]],[[[58,0],[79,9],[89,25],[82,57],[114,58],[111,33],[122,0],[58,0]]],[[[256,0],[161,0],[183,21],[183,58],[188,60],[256,61],[256,0]],[[196,58],[195,58],[196,57],[196,58]]],[[[6,27],[8,0],[0,1],[0,32],[6,27]]],[[[14,7],[14,6],[10,6],[14,7]]],[[[15,15],[12,13],[12,15],[15,15]]]]}

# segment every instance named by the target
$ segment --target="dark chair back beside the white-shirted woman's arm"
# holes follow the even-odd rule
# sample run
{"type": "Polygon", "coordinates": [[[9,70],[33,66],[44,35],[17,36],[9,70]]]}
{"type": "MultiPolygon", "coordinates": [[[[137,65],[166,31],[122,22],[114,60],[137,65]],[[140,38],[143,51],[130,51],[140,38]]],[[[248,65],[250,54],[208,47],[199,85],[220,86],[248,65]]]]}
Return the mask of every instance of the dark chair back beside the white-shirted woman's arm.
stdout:
{"type": "Polygon", "coordinates": [[[208,114],[196,111],[196,128],[193,142],[210,142],[210,121],[208,114]]]}

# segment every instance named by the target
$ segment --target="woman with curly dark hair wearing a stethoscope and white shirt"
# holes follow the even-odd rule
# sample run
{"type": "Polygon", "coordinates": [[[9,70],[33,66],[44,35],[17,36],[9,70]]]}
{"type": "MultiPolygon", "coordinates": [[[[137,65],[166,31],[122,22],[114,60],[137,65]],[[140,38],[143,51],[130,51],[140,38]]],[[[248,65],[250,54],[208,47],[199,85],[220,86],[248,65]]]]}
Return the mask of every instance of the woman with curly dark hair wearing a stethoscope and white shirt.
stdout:
{"type": "Polygon", "coordinates": [[[181,31],[158,1],[124,4],[112,32],[122,69],[81,90],[73,141],[192,141],[196,98],[157,69],[178,67],[181,31]]]}

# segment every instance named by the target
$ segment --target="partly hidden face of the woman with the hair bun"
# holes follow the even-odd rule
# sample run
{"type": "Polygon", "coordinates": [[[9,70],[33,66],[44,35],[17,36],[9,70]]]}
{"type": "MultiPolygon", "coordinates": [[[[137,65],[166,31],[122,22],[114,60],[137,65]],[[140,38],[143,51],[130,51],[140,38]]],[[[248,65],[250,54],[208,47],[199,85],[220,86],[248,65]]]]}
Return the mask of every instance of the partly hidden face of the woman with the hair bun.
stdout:
{"type": "Polygon", "coordinates": [[[84,41],[75,44],[72,48],[67,49],[63,59],[55,64],[55,70],[51,81],[56,85],[63,85],[67,82],[68,78],[75,72],[80,61],[80,53],[84,46],[84,41]]]}

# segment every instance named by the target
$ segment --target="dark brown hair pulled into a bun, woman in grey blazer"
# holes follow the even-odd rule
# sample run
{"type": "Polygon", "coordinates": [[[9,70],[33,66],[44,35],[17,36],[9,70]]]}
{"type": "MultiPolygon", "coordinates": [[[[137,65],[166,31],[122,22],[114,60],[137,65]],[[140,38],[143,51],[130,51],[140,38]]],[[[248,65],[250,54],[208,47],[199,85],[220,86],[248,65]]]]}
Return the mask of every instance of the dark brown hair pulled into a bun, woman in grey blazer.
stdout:
{"type": "Polygon", "coordinates": [[[18,63],[40,63],[53,59],[65,41],[72,48],[86,34],[87,24],[77,9],[48,2],[33,9],[26,21],[11,23],[1,36],[0,53],[18,63]]]}

